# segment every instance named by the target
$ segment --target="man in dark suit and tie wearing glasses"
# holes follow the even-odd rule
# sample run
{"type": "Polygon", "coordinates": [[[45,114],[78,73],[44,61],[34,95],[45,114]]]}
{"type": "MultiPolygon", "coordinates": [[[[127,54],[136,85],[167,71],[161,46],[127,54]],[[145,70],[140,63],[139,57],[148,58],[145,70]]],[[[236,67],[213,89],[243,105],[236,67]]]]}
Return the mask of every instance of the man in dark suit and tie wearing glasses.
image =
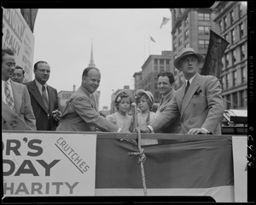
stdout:
{"type": "Polygon", "coordinates": [[[59,99],[57,90],[49,86],[50,67],[45,61],[34,65],[35,79],[27,82],[32,109],[37,119],[38,130],[55,130],[59,122],[59,99]]]}

